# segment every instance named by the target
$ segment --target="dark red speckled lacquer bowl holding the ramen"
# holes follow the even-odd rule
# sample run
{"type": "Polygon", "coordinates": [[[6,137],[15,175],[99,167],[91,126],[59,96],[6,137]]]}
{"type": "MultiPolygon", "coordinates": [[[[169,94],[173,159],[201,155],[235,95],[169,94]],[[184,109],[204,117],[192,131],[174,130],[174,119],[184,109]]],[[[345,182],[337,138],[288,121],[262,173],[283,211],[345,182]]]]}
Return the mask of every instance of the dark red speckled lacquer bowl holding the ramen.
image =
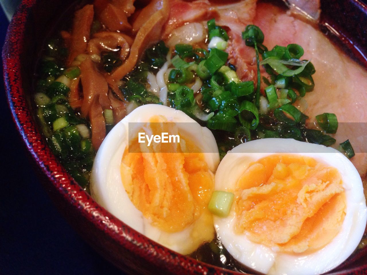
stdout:
{"type": "MultiPolygon", "coordinates": [[[[357,0],[321,0],[321,28],[367,67],[367,8],[357,0]],[[353,42],[352,42],[353,41],[353,42]]],[[[43,40],[72,0],[23,0],[3,48],[4,81],[19,133],[51,198],[73,227],[103,257],[131,274],[240,274],[182,256],[151,241],[99,206],[60,165],[41,135],[33,111],[32,76],[43,40]]],[[[67,14],[67,12],[66,12],[67,14]]],[[[65,15],[62,20],[66,20],[65,15]]],[[[367,274],[367,249],[333,274],[367,274]],[[336,273],[335,273],[336,272],[336,273]]]]}

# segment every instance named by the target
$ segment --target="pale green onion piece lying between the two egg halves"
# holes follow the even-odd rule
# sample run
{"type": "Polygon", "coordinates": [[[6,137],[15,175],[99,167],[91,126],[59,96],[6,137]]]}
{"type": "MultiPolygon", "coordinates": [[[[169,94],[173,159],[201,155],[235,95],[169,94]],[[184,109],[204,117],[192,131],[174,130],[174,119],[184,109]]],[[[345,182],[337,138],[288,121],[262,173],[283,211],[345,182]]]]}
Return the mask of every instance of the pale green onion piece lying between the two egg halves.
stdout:
{"type": "Polygon", "coordinates": [[[211,195],[208,209],[219,217],[227,217],[231,209],[235,194],[225,191],[214,191],[211,195]]]}

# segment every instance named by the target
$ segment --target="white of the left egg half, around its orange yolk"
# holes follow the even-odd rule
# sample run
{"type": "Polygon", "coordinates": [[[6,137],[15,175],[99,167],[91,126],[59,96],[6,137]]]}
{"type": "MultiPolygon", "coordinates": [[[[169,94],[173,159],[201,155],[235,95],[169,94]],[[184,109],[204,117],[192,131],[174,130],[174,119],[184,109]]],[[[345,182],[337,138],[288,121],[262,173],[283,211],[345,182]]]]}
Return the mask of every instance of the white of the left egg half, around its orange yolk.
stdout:
{"type": "MultiPolygon", "coordinates": [[[[153,115],[163,115],[177,122],[179,133],[192,141],[203,152],[212,173],[219,164],[217,143],[211,131],[201,127],[182,111],[158,104],[138,107],[117,123],[103,140],[97,152],[91,173],[92,197],[118,219],[148,238],[182,254],[192,252],[191,232],[194,224],[175,233],[167,233],[151,225],[141,211],[130,201],[121,178],[120,165],[130,136],[137,133],[153,115]],[[134,123],[130,124],[129,123],[134,123]]],[[[199,217],[201,219],[201,217],[199,217]]],[[[195,250],[195,249],[194,249],[195,250]]]]}

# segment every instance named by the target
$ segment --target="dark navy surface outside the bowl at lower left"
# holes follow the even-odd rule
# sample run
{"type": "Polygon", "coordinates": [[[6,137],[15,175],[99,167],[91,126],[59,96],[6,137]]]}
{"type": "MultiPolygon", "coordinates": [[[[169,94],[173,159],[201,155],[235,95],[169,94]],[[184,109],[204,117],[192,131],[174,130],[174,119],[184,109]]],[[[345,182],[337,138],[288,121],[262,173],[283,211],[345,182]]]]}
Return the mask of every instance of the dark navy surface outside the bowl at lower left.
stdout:
{"type": "MultiPolygon", "coordinates": [[[[1,48],[7,27],[0,7],[1,48]]],[[[123,274],[76,234],[37,180],[13,125],[3,81],[0,146],[0,274],[123,274]]]]}

